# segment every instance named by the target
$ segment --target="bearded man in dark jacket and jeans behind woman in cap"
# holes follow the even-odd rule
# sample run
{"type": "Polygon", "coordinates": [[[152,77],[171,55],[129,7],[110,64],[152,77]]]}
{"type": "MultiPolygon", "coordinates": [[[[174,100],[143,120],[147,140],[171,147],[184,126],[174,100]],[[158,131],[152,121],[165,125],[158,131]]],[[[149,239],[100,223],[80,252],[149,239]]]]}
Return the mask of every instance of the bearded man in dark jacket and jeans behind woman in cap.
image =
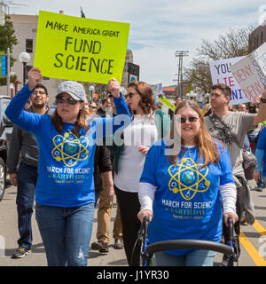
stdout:
{"type": "MultiPolygon", "coordinates": [[[[27,108],[27,111],[47,114],[49,112],[49,107],[46,106],[48,99],[49,95],[45,86],[38,83],[30,96],[31,106],[27,108]]],[[[18,240],[19,248],[16,249],[12,258],[21,258],[31,253],[31,217],[35,200],[38,152],[35,135],[14,125],[7,157],[7,170],[11,184],[18,186],[16,203],[20,239],[18,240]]]]}

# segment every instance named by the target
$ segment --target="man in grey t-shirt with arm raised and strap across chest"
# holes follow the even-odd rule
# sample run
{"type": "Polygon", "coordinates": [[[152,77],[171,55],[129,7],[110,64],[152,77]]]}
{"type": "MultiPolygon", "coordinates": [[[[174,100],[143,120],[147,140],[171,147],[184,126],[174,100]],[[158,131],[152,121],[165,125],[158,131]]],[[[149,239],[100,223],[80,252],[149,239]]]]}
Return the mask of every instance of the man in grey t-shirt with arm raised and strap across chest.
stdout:
{"type": "MultiPolygon", "coordinates": [[[[257,102],[260,98],[256,97],[257,102]]],[[[251,200],[250,188],[246,181],[243,156],[243,147],[246,132],[253,130],[256,125],[266,120],[266,91],[262,93],[261,105],[258,114],[244,112],[230,112],[231,88],[223,83],[217,83],[212,87],[211,106],[213,113],[205,118],[207,129],[212,137],[223,141],[231,155],[231,168],[238,189],[237,213],[239,221],[235,224],[235,231],[239,235],[240,221],[245,212],[246,223],[254,223],[254,204],[251,200]]],[[[224,227],[224,239],[227,243],[228,229],[224,227]]],[[[222,264],[226,264],[226,256],[223,256],[222,264]]]]}

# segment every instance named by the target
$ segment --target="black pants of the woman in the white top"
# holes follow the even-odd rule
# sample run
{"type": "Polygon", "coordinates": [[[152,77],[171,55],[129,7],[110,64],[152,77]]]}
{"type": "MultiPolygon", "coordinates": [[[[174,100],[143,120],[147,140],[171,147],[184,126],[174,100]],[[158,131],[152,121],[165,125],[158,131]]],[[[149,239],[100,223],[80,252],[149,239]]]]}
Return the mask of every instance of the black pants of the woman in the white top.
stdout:
{"type": "Polygon", "coordinates": [[[115,185],[114,190],[116,193],[118,205],[120,207],[123,242],[128,264],[139,266],[141,249],[140,242],[138,242],[137,247],[134,249],[134,245],[137,241],[137,232],[141,225],[139,219],[137,218],[137,213],[140,210],[138,196],[137,193],[124,192],[115,185]],[[133,249],[134,255],[132,256],[133,249]]]}

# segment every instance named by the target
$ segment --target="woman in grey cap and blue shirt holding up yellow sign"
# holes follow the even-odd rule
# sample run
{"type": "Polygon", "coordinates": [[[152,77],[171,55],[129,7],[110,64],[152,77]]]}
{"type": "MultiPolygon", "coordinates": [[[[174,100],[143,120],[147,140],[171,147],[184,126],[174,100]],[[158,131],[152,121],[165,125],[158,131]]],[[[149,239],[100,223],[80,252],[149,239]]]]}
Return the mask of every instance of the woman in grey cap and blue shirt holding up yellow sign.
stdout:
{"type": "MultiPolygon", "coordinates": [[[[41,80],[41,71],[33,67],[28,72],[28,83],[12,99],[5,114],[37,139],[35,216],[48,265],[85,266],[94,220],[95,147],[97,139],[112,135],[121,122],[115,122],[116,118],[86,122],[85,91],[82,84],[73,81],[59,84],[52,116],[24,111],[23,106],[41,80]]],[[[120,94],[120,84],[111,79],[108,88],[118,113],[125,114],[121,121],[129,124],[129,109],[120,94]]]]}

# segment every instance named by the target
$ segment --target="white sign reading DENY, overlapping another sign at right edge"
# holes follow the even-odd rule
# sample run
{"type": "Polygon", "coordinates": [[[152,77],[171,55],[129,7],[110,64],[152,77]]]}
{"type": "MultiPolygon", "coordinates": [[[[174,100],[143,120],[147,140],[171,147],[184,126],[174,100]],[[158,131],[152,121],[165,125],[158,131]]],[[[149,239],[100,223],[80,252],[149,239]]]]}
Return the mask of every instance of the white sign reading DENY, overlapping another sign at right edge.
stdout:
{"type": "Polygon", "coordinates": [[[266,44],[232,65],[231,72],[248,101],[261,96],[266,85],[266,44]]]}

